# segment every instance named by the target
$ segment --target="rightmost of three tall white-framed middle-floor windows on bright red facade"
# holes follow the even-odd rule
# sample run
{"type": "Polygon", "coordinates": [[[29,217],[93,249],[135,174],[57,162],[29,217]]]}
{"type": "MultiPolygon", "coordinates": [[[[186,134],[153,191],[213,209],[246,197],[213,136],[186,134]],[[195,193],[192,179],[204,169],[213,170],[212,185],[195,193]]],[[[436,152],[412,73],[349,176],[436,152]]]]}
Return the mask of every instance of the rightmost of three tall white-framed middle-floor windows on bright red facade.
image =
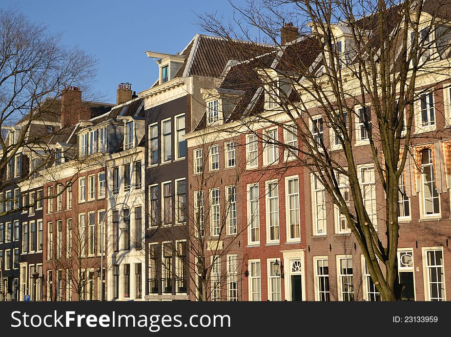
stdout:
{"type": "Polygon", "coordinates": [[[289,225],[289,240],[300,239],[299,221],[299,179],[298,177],[285,178],[285,193],[287,207],[287,223],[289,225]]]}

